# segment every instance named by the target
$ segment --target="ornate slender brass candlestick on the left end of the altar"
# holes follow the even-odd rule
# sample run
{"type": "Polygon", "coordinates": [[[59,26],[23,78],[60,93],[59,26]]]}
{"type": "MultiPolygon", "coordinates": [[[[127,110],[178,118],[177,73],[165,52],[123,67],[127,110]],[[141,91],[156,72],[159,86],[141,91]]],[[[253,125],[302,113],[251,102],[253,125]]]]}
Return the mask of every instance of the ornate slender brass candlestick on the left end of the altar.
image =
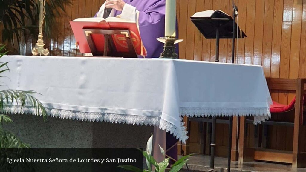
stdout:
{"type": "Polygon", "coordinates": [[[45,11],[45,4],[46,0],[39,0],[40,2],[40,10],[39,10],[39,34],[38,34],[38,40],[35,45],[35,48],[32,50],[33,55],[44,55],[47,56],[49,54],[48,49],[44,49],[44,46],[46,45],[43,43],[43,21],[46,16],[45,11]]]}

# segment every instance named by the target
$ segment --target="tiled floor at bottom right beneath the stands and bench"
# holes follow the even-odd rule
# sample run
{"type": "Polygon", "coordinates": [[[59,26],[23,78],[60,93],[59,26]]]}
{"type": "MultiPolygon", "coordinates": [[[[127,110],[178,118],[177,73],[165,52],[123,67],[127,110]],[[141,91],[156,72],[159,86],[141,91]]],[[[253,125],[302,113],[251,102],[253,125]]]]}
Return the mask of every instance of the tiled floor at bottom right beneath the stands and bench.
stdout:
{"type": "MultiPolygon", "coordinates": [[[[210,157],[207,155],[195,155],[188,161],[190,172],[208,171],[210,165],[210,157]]],[[[187,172],[185,166],[182,172],[187,172]]],[[[215,158],[215,171],[227,172],[227,158],[215,158]]],[[[241,171],[238,162],[231,163],[231,172],[241,171]]],[[[291,168],[291,165],[264,163],[264,162],[245,162],[242,164],[242,172],[306,172],[306,168],[291,168]]]]}

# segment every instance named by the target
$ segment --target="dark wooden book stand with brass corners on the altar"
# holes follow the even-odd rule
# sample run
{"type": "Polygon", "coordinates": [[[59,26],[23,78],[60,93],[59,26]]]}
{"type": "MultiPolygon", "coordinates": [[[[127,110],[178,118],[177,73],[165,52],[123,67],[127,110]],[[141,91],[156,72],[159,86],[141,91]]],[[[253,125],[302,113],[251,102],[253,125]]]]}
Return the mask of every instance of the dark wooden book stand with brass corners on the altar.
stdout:
{"type": "Polygon", "coordinates": [[[128,29],[100,29],[100,28],[83,28],[84,35],[93,56],[104,57],[123,57],[123,58],[137,58],[136,50],[133,40],[128,29]],[[104,35],[104,51],[98,51],[91,34],[104,35]],[[127,42],[129,52],[118,52],[114,44],[113,35],[124,35],[127,42]]]}

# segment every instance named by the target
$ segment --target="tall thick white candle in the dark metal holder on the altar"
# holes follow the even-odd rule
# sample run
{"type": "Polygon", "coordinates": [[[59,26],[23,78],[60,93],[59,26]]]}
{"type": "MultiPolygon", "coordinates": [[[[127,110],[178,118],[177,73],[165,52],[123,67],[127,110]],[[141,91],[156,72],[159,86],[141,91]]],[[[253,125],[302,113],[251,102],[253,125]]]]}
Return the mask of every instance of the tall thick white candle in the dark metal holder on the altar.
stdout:
{"type": "Polygon", "coordinates": [[[175,37],[176,0],[166,0],[165,37],[175,37]]]}

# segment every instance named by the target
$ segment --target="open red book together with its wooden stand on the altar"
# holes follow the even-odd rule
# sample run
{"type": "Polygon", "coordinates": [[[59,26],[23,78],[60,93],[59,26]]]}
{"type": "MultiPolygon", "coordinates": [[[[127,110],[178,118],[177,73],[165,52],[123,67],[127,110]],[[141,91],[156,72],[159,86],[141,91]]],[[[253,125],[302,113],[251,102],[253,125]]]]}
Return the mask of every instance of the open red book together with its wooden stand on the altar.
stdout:
{"type": "Polygon", "coordinates": [[[118,17],[78,18],[70,25],[81,53],[124,58],[147,55],[133,21],[118,17]]]}

